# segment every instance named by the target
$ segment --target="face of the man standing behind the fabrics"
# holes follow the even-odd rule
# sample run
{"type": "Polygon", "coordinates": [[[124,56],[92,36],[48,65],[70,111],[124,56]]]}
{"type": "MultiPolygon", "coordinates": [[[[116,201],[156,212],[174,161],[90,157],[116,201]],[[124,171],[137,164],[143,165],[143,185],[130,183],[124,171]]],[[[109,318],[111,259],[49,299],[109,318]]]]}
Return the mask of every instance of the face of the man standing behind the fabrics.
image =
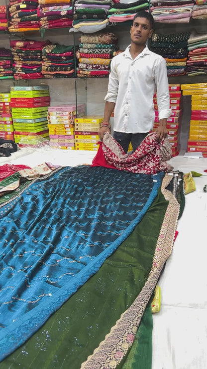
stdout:
{"type": "Polygon", "coordinates": [[[137,17],[130,29],[131,41],[136,45],[144,45],[151,36],[152,29],[150,21],[146,18],[137,17]]]}

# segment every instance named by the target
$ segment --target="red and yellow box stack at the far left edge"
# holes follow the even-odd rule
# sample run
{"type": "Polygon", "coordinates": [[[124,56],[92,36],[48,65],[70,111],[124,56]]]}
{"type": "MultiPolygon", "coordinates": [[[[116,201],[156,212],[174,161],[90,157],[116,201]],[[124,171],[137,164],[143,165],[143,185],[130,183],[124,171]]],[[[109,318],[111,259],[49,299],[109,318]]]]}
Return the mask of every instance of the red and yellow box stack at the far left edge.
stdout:
{"type": "Polygon", "coordinates": [[[0,93],[0,138],[14,141],[10,93],[0,93]]]}

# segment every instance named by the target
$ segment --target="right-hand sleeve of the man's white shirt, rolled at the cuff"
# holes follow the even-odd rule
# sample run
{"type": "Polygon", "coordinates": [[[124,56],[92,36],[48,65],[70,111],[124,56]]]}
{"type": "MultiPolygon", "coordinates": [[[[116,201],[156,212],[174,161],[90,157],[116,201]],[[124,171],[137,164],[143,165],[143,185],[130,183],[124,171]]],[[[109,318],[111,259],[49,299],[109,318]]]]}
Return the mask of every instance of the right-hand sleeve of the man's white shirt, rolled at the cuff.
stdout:
{"type": "Polygon", "coordinates": [[[172,110],[170,109],[169,83],[165,59],[162,59],[155,68],[155,84],[157,86],[159,120],[169,118],[172,110]]]}

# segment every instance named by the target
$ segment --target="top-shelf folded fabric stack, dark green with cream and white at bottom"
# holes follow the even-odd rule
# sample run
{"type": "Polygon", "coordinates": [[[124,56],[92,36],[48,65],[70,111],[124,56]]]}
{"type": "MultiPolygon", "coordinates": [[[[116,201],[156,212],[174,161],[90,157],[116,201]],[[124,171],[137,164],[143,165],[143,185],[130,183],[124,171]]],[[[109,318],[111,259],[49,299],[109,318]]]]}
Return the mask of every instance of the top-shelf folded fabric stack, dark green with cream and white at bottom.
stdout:
{"type": "Polygon", "coordinates": [[[110,6],[110,0],[75,1],[73,27],[84,33],[93,33],[105,28],[110,6]]]}

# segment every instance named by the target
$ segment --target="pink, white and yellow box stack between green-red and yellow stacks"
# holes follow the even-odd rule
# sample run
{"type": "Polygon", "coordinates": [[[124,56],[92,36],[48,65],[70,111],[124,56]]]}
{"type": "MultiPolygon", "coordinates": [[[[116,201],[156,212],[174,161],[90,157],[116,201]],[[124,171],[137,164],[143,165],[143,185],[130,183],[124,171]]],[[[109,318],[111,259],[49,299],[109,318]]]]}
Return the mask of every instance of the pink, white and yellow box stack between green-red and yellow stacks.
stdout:
{"type": "Polygon", "coordinates": [[[50,143],[54,147],[75,150],[75,118],[85,114],[86,104],[68,103],[48,108],[50,143]]]}

